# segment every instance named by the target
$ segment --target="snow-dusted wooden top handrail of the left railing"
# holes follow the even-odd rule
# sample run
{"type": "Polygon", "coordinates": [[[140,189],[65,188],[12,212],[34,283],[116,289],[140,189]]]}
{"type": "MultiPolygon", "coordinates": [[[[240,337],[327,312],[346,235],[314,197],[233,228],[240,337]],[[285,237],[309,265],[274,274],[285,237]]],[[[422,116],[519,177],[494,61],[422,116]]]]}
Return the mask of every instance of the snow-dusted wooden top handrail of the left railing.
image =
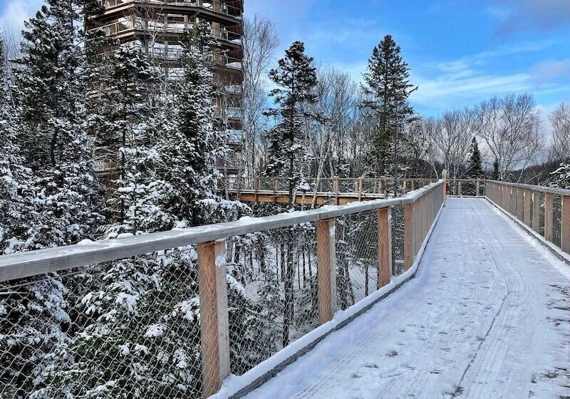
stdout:
{"type": "Polygon", "coordinates": [[[142,234],[137,237],[124,239],[108,239],[69,245],[67,247],[3,255],[0,256],[0,282],[71,269],[77,266],[115,261],[135,257],[140,254],[185,247],[191,244],[213,242],[254,232],[264,232],[270,229],[294,226],[295,224],[333,219],[348,214],[408,204],[415,202],[416,199],[431,190],[437,190],[437,187],[441,187],[441,185],[442,182],[433,183],[400,198],[378,199],[338,207],[321,207],[309,211],[276,214],[269,217],[244,217],[237,222],[209,224],[189,229],[142,234]]]}

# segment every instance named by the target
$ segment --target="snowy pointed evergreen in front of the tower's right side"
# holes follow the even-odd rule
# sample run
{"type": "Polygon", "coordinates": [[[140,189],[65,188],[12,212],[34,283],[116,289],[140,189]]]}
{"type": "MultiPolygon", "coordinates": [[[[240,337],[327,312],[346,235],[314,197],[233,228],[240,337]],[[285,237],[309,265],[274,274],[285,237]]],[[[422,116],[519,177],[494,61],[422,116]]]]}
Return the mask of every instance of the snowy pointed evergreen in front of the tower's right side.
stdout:
{"type": "Polygon", "coordinates": [[[211,26],[195,24],[182,44],[182,81],[158,139],[163,165],[157,172],[171,187],[163,199],[165,209],[179,226],[190,227],[231,219],[242,205],[217,195],[215,162],[225,148],[215,118],[211,26]]]}

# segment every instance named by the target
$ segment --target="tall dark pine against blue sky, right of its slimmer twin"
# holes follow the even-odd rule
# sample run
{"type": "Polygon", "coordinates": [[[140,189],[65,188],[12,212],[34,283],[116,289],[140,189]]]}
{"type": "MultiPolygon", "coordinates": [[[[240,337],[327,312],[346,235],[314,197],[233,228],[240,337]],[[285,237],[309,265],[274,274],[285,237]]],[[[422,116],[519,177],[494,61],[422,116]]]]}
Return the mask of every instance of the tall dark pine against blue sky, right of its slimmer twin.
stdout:
{"type": "Polygon", "coordinates": [[[366,100],[362,103],[376,119],[368,154],[369,170],[377,176],[391,174],[395,181],[400,172],[403,127],[413,115],[408,98],[417,90],[409,82],[410,70],[400,51],[400,46],[390,35],[374,48],[368,60],[368,71],[364,74],[366,100]]]}

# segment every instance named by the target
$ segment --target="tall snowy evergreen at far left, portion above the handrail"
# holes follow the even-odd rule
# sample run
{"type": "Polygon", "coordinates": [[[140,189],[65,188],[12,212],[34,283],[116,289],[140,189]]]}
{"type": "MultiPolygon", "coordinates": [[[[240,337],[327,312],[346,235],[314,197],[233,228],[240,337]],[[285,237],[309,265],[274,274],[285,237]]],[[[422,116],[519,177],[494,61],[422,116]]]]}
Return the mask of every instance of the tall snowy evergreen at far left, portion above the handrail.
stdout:
{"type": "Polygon", "coordinates": [[[37,177],[45,231],[21,242],[37,249],[78,242],[100,222],[102,191],[95,178],[85,124],[82,82],[82,1],[46,1],[22,32],[16,95],[26,135],[21,150],[37,177]]]}

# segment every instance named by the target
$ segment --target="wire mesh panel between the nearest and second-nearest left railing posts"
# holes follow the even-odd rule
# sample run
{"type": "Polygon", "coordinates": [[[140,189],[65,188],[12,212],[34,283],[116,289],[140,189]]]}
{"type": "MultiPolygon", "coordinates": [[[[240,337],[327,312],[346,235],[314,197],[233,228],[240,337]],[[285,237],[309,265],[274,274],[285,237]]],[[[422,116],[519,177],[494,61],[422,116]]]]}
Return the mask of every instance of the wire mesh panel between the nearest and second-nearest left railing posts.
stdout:
{"type": "Polygon", "coordinates": [[[315,224],[232,237],[227,257],[230,368],[241,375],[318,326],[315,224]]]}

